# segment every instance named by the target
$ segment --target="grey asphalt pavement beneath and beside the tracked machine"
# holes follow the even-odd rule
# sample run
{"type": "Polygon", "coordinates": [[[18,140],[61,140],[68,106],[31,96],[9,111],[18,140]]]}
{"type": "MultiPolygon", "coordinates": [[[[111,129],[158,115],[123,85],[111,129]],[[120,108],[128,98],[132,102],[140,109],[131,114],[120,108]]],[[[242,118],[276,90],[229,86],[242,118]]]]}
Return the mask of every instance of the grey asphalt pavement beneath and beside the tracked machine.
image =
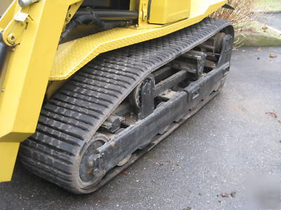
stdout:
{"type": "Polygon", "coordinates": [[[18,162],[0,209],[280,209],[280,120],[281,48],[239,48],[221,94],[128,174],[78,196],[18,162]]]}

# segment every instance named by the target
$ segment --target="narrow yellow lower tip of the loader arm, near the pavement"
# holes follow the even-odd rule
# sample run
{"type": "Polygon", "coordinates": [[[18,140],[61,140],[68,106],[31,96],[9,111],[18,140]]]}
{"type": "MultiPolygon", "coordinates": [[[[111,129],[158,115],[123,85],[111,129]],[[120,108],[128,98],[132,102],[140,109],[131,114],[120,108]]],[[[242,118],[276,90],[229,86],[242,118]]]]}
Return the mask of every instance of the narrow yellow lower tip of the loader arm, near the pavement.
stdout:
{"type": "Polygon", "coordinates": [[[11,181],[20,143],[0,142],[0,182],[11,181]]]}

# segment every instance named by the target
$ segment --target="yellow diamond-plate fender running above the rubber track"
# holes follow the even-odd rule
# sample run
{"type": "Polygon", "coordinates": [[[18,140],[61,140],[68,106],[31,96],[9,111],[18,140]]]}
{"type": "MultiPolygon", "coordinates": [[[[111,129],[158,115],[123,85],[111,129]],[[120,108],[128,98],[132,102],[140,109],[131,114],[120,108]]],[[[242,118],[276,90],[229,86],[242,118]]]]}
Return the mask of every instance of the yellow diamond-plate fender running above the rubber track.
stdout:
{"type": "MultiPolygon", "coordinates": [[[[145,0],[146,1],[146,0],[145,0]]],[[[100,53],[165,36],[200,22],[226,0],[192,0],[190,18],[151,29],[116,28],[63,43],[58,47],[50,80],[65,80],[100,53]]],[[[141,7],[141,6],[140,6],[141,7]]]]}

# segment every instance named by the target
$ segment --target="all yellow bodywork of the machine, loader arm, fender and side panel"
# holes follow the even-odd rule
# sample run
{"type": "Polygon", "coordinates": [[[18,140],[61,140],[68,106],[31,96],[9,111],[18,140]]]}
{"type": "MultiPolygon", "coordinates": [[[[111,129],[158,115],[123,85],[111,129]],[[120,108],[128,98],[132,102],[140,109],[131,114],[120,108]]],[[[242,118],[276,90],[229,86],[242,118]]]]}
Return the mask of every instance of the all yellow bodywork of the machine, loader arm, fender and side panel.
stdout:
{"type": "Polygon", "coordinates": [[[226,0],[131,0],[130,9],[139,14],[135,27],[58,45],[81,3],[41,0],[21,8],[14,0],[0,19],[4,42],[11,46],[0,71],[0,181],[11,180],[19,144],[34,133],[46,92],[60,87],[59,81],[63,83],[100,53],[194,25],[226,0]],[[54,80],[55,85],[50,85],[54,80]]]}

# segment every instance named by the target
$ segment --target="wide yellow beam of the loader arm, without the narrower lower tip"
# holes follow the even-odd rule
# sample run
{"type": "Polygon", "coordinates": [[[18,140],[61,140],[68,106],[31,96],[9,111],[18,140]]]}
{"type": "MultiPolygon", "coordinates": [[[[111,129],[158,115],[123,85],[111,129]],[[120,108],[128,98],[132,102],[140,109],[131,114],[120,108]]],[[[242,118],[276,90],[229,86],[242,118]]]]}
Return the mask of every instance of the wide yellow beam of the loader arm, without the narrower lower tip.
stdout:
{"type": "Polygon", "coordinates": [[[39,1],[27,8],[31,20],[0,76],[0,142],[34,133],[67,10],[77,2],[39,1]]]}

